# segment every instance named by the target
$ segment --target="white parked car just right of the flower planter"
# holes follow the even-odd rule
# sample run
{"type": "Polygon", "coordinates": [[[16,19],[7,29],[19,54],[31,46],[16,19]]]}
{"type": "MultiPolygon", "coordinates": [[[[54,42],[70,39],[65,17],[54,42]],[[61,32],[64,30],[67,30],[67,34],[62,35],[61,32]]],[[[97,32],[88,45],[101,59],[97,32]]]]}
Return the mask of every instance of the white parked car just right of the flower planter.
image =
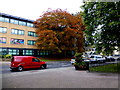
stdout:
{"type": "Polygon", "coordinates": [[[101,55],[91,55],[88,60],[90,60],[90,62],[105,62],[105,58],[101,55]]]}

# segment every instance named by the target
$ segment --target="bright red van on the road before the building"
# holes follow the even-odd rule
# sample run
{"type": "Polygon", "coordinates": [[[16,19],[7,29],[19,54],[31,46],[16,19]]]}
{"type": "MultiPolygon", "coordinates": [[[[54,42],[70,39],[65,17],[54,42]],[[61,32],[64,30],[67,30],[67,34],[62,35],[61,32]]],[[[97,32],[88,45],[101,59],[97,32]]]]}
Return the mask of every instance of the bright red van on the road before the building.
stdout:
{"type": "Polygon", "coordinates": [[[13,56],[11,59],[11,70],[22,71],[29,68],[47,68],[47,64],[33,56],[13,56]]]}

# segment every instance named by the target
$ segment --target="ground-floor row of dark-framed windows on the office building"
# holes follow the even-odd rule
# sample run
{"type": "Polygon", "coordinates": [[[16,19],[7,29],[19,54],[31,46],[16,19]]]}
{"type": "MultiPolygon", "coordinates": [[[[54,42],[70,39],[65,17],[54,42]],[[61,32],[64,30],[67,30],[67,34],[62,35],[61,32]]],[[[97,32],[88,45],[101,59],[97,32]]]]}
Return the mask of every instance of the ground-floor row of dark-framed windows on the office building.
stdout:
{"type": "MultiPolygon", "coordinates": [[[[6,54],[10,54],[10,55],[20,55],[21,50],[20,49],[6,49],[6,48],[0,48],[0,54],[2,55],[6,55],[6,54]]],[[[22,50],[23,55],[34,55],[35,54],[35,50],[33,49],[25,49],[22,50]]],[[[51,54],[51,51],[38,51],[37,50],[37,54],[38,55],[49,55],[51,54]]]]}

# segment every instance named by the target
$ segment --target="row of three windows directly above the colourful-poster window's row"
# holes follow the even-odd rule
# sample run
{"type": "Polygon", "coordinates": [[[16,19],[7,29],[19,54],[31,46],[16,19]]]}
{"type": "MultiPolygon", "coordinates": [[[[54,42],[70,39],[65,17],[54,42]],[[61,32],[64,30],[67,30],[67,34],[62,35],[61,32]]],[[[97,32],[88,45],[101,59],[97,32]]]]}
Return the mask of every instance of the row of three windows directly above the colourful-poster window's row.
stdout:
{"type": "MultiPolygon", "coordinates": [[[[0,27],[0,33],[7,33],[7,28],[6,27],[0,27]]],[[[11,34],[24,35],[25,31],[24,30],[19,30],[19,29],[12,29],[11,34]]],[[[37,37],[37,34],[35,32],[28,31],[28,36],[37,37]]]]}

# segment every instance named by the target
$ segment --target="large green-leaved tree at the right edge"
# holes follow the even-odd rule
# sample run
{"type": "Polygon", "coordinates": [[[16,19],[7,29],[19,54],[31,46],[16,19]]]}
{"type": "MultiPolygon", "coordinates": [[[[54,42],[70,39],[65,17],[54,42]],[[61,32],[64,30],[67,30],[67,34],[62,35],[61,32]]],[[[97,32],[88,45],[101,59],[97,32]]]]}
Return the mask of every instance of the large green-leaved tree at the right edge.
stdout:
{"type": "Polygon", "coordinates": [[[120,2],[86,2],[82,9],[88,44],[106,55],[120,50],[120,2]]]}

